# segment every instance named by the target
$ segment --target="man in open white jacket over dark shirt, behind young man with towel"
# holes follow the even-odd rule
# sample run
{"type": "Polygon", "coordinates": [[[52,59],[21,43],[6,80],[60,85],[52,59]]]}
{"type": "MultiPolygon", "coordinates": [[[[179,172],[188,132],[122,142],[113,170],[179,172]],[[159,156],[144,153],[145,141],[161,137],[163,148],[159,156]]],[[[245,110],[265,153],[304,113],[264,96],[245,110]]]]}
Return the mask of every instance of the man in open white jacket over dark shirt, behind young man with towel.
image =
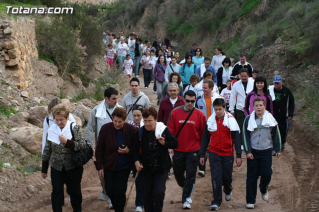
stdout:
{"type": "MultiPolygon", "coordinates": [[[[241,80],[234,83],[229,99],[229,112],[235,117],[240,128],[240,139],[242,143],[242,128],[245,121],[244,106],[246,95],[253,90],[253,81],[249,79],[248,69],[240,70],[241,80]],[[236,105],[236,110],[235,110],[236,105]]],[[[243,145],[242,150],[244,150],[243,145]]]]}

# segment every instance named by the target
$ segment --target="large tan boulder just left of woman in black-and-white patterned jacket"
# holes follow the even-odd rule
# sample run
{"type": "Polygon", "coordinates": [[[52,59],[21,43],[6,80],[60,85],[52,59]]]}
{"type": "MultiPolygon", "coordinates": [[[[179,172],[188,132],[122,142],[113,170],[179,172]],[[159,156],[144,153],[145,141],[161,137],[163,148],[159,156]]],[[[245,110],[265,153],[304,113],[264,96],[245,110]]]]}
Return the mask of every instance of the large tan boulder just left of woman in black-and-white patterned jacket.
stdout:
{"type": "Polygon", "coordinates": [[[38,127],[15,127],[9,130],[12,140],[31,153],[42,152],[42,134],[43,129],[38,127]]]}

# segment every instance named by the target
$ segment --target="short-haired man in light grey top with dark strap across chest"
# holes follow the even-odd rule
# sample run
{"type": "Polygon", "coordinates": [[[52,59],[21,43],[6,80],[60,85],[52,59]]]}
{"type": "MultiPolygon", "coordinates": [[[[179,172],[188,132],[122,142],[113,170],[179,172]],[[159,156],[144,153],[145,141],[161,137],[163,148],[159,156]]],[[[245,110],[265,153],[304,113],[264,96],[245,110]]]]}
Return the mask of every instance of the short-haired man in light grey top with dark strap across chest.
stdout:
{"type": "Polygon", "coordinates": [[[142,91],[139,91],[140,87],[141,87],[140,80],[136,77],[133,77],[130,80],[131,92],[124,96],[123,102],[122,102],[122,106],[124,107],[124,109],[126,109],[128,114],[127,122],[134,120],[133,111],[132,111],[132,108],[134,107],[134,105],[136,104],[143,105],[144,108],[151,107],[149,97],[145,95],[145,93],[143,93],[142,91]]]}

